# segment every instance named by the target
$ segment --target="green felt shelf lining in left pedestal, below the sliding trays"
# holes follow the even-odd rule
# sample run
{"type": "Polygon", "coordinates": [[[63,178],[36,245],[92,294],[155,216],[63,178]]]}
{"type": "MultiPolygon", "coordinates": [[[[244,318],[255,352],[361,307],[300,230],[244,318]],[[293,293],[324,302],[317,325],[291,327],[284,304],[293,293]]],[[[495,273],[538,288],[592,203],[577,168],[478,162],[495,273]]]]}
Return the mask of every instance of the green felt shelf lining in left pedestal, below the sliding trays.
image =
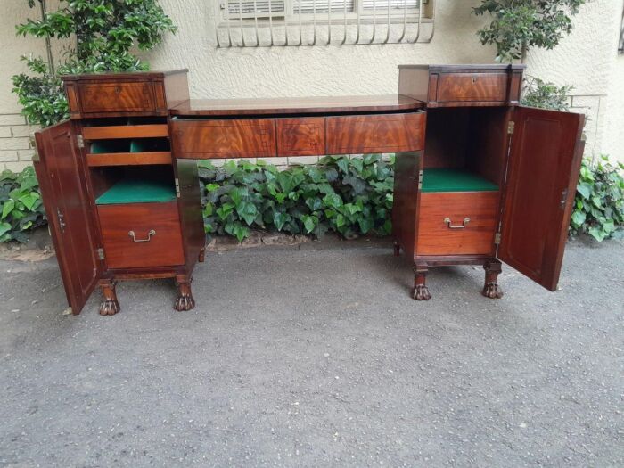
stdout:
{"type": "Polygon", "coordinates": [[[98,205],[120,203],[156,203],[176,200],[176,190],[172,182],[160,180],[125,179],[111,186],[100,195],[98,205]]]}

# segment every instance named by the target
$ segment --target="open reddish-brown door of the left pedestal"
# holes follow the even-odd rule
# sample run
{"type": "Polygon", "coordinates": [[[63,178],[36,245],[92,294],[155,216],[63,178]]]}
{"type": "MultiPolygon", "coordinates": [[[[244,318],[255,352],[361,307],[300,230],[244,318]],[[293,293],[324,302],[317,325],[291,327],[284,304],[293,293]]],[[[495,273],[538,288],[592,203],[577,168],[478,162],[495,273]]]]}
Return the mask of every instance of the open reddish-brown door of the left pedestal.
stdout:
{"type": "Polygon", "coordinates": [[[79,314],[101,272],[84,160],[74,124],[62,122],[35,134],[35,170],[62,282],[73,314],[79,314]]]}

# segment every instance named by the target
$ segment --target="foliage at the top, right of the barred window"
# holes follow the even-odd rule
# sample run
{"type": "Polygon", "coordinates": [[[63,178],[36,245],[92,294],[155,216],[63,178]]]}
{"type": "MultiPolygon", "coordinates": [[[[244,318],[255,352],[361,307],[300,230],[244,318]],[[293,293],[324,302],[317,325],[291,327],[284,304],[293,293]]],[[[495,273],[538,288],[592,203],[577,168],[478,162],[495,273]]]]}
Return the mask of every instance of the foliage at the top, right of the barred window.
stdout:
{"type": "Polygon", "coordinates": [[[495,45],[498,62],[525,62],[530,47],[553,49],[570,34],[572,19],[586,0],[481,0],[472,9],[492,21],[478,31],[483,45],[495,45]]]}

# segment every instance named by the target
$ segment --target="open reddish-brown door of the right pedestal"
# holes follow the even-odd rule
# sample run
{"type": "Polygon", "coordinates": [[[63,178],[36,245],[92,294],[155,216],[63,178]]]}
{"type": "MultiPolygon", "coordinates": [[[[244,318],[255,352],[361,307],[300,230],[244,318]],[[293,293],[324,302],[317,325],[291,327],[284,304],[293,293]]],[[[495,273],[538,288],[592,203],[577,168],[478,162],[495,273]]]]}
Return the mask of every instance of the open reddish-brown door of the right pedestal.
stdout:
{"type": "Polygon", "coordinates": [[[497,257],[555,291],[584,144],[584,116],[517,107],[497,257]]]}

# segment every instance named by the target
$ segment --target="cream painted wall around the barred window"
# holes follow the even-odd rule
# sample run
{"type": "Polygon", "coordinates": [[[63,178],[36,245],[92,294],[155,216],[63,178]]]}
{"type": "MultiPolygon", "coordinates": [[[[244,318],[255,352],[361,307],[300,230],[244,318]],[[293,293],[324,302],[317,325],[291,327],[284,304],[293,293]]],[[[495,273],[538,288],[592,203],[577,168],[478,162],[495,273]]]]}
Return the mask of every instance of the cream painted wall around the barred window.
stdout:
{"type": "MultiPolygon", "coordinates": [[[[160,2],[179,30],[145,58],[153,69],[188,68],[192,97],[392,94],[399,63],[487,63],[495,56],[475,34],[487,21],[471,14],[479,0],[438,0],[431,44],[232,49],[216,48],[213,10],[206,0],[160,2]]],[[[530,53],[528,73],[574,85],[571,103],[589,116],[587,155],[609,152],[624,161],[624,58],[617,55],[622,2],[591,0],[581,7],[570,37],[553,51],[530,53]]],[[[43,41],[14,37],[13,25],[35,13],[25,5],[24,0],[4,0],[0,18],[0,168],[6,134],[1,116],[19,112],[10,77],[23,70],[21,53],[44,52],[43,41]]]]}

